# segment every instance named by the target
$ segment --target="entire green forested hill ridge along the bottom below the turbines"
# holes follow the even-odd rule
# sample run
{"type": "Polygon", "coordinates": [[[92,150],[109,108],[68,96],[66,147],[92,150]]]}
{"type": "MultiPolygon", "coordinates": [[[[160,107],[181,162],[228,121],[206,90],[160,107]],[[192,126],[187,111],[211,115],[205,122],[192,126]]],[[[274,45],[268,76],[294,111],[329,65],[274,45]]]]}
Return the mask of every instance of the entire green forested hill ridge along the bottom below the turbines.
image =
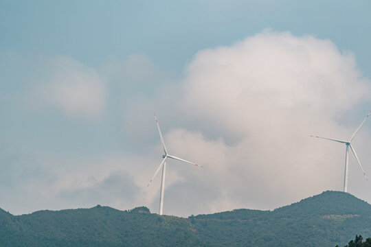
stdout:
{"type": "Polygon", "coordinates": [[[371,236],[371,205],[326,191],[274,211],[236,209],[188,218],[146,207],[37,211],[0,209],[0,246],[344,246],[371,236]]]}

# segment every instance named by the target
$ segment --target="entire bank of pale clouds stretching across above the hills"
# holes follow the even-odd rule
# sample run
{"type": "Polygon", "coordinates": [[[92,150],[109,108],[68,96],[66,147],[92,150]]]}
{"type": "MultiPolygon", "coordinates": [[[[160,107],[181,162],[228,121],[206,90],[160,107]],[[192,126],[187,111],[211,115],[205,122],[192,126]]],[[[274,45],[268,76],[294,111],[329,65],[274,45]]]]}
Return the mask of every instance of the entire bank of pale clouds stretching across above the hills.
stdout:
{"type": "MultiPolygon", "coordinates": [[[[112,60],[98,69],[58,57],[47,68],[34,80],[40,83],[31,87],[33,99],[68,119],[87,120],[94,132],[111,141],[122,139],[124,144],[117,141],[117,146],[131,149],[69,154],[35,148],[31,167],[21,158],[3,173],[33,174],[22,173],[27,179],[4,193],[11,213],[98,203],[117,209],[145,205],[157,212],[160,174],[146,187],[162,155],[154,112],[170,154],[204,166],[168,162],[166,214],[274,209],[324,190],[341,190],[344,147],[309,135],[348,139],[363,119],[347,125],[339,119],[370,93],[370,80],[363,78],[350,52],[339,51],[330,40],[271,30],[199,51],[176,82],[144,55],[112,60]],[[115,125],[120,134],[111,128],[115,125]],[[11,207],[15,193],[28,195],[27,209],[24,203],[11,207]]],[[[82,143],[86,137],[78,134],[82,143]]],[[[371,174],[368,137],[363,128],[355,148],[371,174]]],[[[4,150],[0,154],[6,158],[4,150]]],[[[350,193],[371,202],[370,185],[352,157],[349,176],[350,193]]]]}

